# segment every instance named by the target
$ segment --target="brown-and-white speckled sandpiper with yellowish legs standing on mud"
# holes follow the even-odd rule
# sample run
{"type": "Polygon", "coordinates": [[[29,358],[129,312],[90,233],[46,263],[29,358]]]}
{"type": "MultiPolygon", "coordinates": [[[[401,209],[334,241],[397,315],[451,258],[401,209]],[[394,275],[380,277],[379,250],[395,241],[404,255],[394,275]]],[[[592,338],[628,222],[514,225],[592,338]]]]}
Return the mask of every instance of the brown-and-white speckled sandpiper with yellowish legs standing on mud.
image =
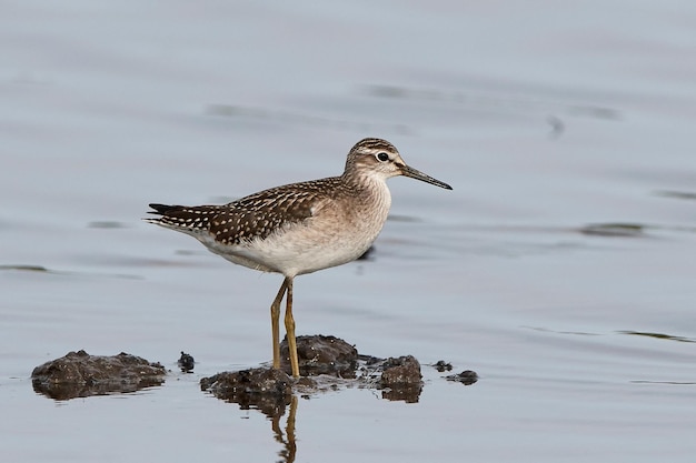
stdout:
{"type": "Polygon", "coordinates": [[[285,276],[270,306],[274,368],[280,368],[279,318],[285,326],[292,375],[299,376],[292,280],[356,260],[382,229],[391,194],[386,180],[406,175],[451,190],[409,167],[386,140],[360,140],[348,153],[340,177],[264,190],[222,205],[150,204],[150,223],[190,234],[233,263],[285,276]]]}

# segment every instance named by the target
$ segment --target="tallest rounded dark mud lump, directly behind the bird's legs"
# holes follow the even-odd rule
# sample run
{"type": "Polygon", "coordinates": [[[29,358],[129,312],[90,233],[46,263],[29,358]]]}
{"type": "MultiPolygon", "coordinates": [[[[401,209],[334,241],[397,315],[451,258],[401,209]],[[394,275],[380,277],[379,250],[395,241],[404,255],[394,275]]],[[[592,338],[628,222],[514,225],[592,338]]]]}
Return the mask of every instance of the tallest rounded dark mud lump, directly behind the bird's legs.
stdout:
{"type": "MultiPolygon", "coordinates": [[[[298,336],[297,356],[300,376],[331,374],[355,378],[358,366],[356,348],[336,336],[298,336]]],[[[287,373],[291,372],[287,338],[280,343],[280,366],[287,373]]]]}

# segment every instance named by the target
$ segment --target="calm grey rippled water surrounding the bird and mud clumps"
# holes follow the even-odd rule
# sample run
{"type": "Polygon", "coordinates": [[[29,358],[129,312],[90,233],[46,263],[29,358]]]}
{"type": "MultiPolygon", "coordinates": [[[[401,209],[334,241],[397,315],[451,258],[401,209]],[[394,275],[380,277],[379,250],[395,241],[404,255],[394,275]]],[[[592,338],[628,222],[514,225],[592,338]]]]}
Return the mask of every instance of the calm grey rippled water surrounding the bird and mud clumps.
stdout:
{"type": "Polygon", "coordinates": [[[338,174],[369,135],[454,191],[392,179],[374,259],[297,280],[298,333],[480,381],[300,399],[297,461],[693,461],[694,30],[683,1],[4,2],[2,460],[281,460],[198,389],[270,359],[280,278],[140,218],[338,174]],[[78,349],[175,373],[34,394],[78,349]]]}

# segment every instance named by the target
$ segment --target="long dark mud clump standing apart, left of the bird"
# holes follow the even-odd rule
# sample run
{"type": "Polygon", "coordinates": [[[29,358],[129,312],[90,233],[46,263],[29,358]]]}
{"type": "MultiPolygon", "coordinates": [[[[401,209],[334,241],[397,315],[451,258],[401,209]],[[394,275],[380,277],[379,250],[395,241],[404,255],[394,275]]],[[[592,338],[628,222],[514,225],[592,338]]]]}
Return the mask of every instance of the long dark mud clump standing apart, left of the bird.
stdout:
{"type": "Polygon", "coordinates": [[[31,373],[31,381],[36,392],[56,400],[68,400],[160,385],[166,374],[159,363],[123,352],[106,356],[78,351],[37,366],[31,373]]]}

